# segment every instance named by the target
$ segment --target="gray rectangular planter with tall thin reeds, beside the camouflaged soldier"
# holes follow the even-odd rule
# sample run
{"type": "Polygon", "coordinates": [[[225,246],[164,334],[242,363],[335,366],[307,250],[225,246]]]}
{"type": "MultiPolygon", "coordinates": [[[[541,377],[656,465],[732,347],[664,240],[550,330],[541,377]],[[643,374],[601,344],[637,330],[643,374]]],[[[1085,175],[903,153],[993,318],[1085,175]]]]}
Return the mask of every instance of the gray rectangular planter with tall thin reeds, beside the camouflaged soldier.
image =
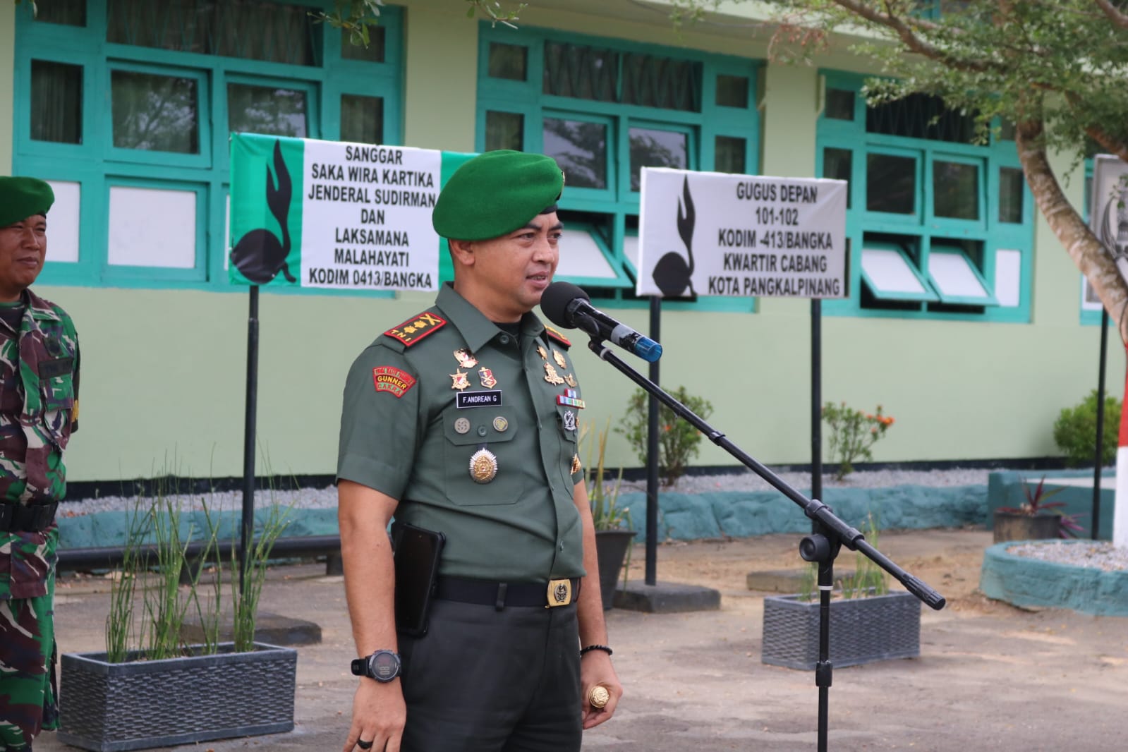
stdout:
{"type": "Polygon", "coordinates": [[[111,752],[293,729],[297,651],[254,642],[266,563],[287,514],[277,506],[267,512],[241,586],[231,545],[231,643],[219,642],[219,525],[206,505],[203,515],[206,567],[190,560],[193,525],[184,524],[182,536],[185,521],[173,501],[158,495],[134,508],[124,560],[113,574],[106,652],[62,655],[60,741],[111,752]],[[143,545],[147,539],[152,543],[143,545]],[[202,598],[205,574],[212,592],[202,598]],[[202,644],[184,644],[180,636],[190,610],[204,627],[202,644]]]}

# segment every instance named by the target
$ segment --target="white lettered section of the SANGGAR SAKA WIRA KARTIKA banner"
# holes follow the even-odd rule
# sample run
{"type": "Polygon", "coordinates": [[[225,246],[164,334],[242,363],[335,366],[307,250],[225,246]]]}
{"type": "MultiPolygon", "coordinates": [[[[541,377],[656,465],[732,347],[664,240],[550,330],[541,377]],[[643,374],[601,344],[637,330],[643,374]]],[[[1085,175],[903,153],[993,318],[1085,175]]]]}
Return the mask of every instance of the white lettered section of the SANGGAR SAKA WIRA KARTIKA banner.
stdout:
{"type": "Polygon", "coordinates": [[[435,290],[442,152],[306,141],[301,284],[435,290]]]}

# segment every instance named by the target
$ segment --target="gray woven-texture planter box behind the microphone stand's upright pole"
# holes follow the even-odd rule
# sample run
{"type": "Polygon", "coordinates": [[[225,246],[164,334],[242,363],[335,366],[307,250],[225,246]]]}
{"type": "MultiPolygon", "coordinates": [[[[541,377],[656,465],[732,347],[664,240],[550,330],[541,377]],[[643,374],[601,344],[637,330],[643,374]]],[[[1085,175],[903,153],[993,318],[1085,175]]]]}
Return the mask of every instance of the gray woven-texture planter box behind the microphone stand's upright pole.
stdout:
{"type": "MultiPolygon", "coordinates": [[[[819,660],[819,601],[797,595],[764,599],[760,660],[813,670],[819,660]]],[[[920,601],[907,592],[830,602],[830,662],[853,666],[920,655],[920,601]]]]}

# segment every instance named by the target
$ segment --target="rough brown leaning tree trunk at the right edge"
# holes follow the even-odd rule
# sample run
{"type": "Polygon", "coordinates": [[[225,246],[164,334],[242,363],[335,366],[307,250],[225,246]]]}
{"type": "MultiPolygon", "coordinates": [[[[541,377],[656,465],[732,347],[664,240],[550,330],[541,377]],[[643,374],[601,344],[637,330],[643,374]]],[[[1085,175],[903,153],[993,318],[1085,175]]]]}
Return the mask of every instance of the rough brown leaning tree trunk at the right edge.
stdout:
{"type": "Polygon", "coordinates": [[[1128,343],[1128,282],[1104,246],[1061,193],[1061,186],[1046,157],[1042,127],[1042,122],[1034,120],[1020,123],[1016,129],[1015,147],[1026,184],[1054,235],[1089,280],[1109,317],[1117,322],[1120,340],[1128,343]]]}

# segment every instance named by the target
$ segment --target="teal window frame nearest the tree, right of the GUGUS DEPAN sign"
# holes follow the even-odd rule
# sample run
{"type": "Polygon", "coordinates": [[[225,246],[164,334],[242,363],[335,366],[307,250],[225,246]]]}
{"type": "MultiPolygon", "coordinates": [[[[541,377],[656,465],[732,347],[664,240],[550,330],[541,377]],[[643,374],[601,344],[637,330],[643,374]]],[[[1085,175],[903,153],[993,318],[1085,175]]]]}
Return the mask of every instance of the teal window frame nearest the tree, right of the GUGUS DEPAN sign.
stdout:
{"type": "MultiPolygon", "coordinates": [[[[987,144],[954,143],[949,141],[931,141],[907,136],[870,133],[865,127],[865,99],[861,94],[865,77],[834,70],[821,70],[820,89],[848,90],[854,96],[854,116],[852,120],[836,120],[819,114],[816,132],[816,174],[822,175],[826,149],[840,149],[851,152],[851,194],[852,202],[846,212],[846,237],[851,248],[861,249],[864,245],[873,246],[873,240],[864,244],[870,235],[898,236],[911,241],[917,248],[916,258],[910,262],[914,273],[928,280],[928,254],[933,244],[960,244],[973,241],[982,249],[979,264],[971,264],[985,289],[992,293],[990,301],[976,302],[919,301],[918,307],[907,307],[911,310],[890,310],[876,307],[863,307],[862,285],[875,292],[870,281],[862,274],[861,253],[852,253],[848,258],[849,295],[840,300],[823,301],[822,310],[828,316],[908,318],[932,320],[963,321],[997,321],[1029,322],[1031,317],[1032,257],[1034,253],[1033,198],[1030,189],[1023,186],[1022,221],[1016,223],[998,221],[999,207],[999,168],[1021,169],[1017,152],[1013,141],[1005,141],[996,135],[990,136],[987,144]],[[866,207],[866,157],[870,153],[890,153],[893,156],[918,154],[916,175],[916,211],[913,215],[890,214],[887,212],[870,212],[866,207]],[[936,161],[954,161],[975,165],[979,182],[977,196],[979,207],[978,220],[936,216],[933,203],[933,169],[936,161]],[[1022,254],[1019,304],[1003,307],[994,295],[995,255],[1001,250],[1019,250],[1022,254]],[[968,306],[975,307],[969,309],[968,306]]],[[[926,289],[933,290],[931,282],[926,289]]],[[[882,297],[874,294],[874,298],[882,297]]],[[[938,295],[937,295],[938,298],[938,295]]],[[[891,298],[883,298],[891,300],[891,298]]]]}

